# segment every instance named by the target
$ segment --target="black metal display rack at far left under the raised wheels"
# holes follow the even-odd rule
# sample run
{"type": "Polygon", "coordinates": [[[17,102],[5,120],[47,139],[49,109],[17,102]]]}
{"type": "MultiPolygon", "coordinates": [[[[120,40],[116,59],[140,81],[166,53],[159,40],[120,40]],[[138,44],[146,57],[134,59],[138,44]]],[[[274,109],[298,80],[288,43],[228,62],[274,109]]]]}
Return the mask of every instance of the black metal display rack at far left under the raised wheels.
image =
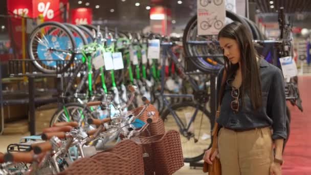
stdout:
{"type": "MultiPolygon", "coordinates": [[[[57,102],[58,97],[55,97],[55,95],[59,94],[56,93],[52,97],[38,97],[36,94],[38,91],[36,91],[35,87],[35,79],[36,78],[43,78],[43,77],[55,77],[55,78],[60,78],[60,86],[57,90],[45,90],[43,94],[51,94],[51,91],[53,92],[62,92],[62,87],[63,87],[63,78],[64,77],[69,77],[72,75],[73,70],[75,69],[75,64],[73,63],[72,66],[65,72],[61,73],[58,70],[62,70],[65,63],[69,62],[69,60],[40,60],[41,62],[44,61],[50,61],[52,65],[55,65],[54,67],[48,67],[47,65],[42,65],[45,69],[51,69],[51,70],[56,70],[55,73],[53,74],[48,74],[48,73],[43,73],[40,72],[34,64],[34,60],[32,59],[12,59],[8,61],[8,72],[10,77],[27,77],[28,79],[28,98],[24,97],[21,99],[8,99],[4,100],[3,98],[3,93],[2,93],[2,82],[0,81],[0,87],[1,87],[1,92],[0,92],[0,100],[1,100],[1,106],[3,105],[8,105],[8,104],[29,104],[29,130],[30,130],[30,135],[35,135],[36,130],[35,130],[35,106],[40,105],[40,104],[47,104],[51,102],[57,102]]],[[[1,70],[0,70],[1,71],[1,70]]],[[[1,79],[1,75],[0,75],[1,79]]],[[[26,78],[25,78],[26,79],[26,78]]],[[[3,130],[4,128],[4,116],[3,114],[1,115],[2,118],[2,123],[1,123],[1,129],[3,130]]],[[[2,134],[3,131],[0,133],[2,134]]]]}

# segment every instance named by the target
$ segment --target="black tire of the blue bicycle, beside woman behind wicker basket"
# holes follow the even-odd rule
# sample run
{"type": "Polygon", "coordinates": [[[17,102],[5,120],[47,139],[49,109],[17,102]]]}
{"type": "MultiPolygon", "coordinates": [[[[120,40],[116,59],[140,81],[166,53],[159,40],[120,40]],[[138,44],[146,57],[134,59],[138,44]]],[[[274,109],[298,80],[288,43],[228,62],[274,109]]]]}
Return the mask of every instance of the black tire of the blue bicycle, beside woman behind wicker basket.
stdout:
{"type": "MultiPolygon", "coordinates": [[[[173,104],[172,106],[171,106],[171,108],[172,108],[172,110],[173,111],[178,111],[178,109],[179,108],[182,108],[182,109],[185,109],[186,107],[196,107],[197,106],[197,103],[194,103],[194,102],[182,102],[182,103],[177,103],[177,104],[173,104]]],[[[210,123],[210,126],[211,126],[211,128],[210,128],[210,130],[209,129],[207,129],[210,133],[208,133],[208,134],[210,134],[211,135],[211,130],[212,130],[212,127],[213,127],[213,119],[211,118],[211,115],[210,115],[210,113],[206,110],[206,108],[205,108],[205,105],[204,106],[202,106],[202,105],[198,105],[198,110],[199,111],[201,111],[202,112],[202,114],[204,114],[204,115],[206,115],[206,117],[207,117],[207,122],[209,122],[210,123]]],[[[162,115],[161,115],[161,118],[162,118],[162,120],[164,121],[164,122],[166,122],[166,120],[167,120],[167,117],[168,117],[168,115],[170,114],[170,111],[168,110],[168,109],[166,109],[163,113],[162,113],[162,115]]],[[[204,126],[204,128],[207,128],[208,126],[204,126]]],[[[181,131],[180,131],[181,132],[181,131]]],[[[181,140],[183,140],[183,135],[181,135],[181,140]]],[[[210,144],[208,145],[206,145],[206,148],[205,149],[208,149],[210,146],[211,146],[211,144],[212,144],[212,138],[210,138],[210,144]]],[[[183,145],[183,143],[182,143],[182,145],[183,145]]],[[[204,146],[205,147],[205,146],[204,146]]],[[[195,150],[197,150],[198,148],[195,148],[195,150]]],[[[184,152],[184,150],[183,150],[183,152],[184,152]]],[[[185,152],[184,152],[185,153],[185,152]]],[[[197,162],[197,161],[201,161],[202,159],[203,159],[203,155],[204,155],[204,150],[202,150],[202,154],[199,154],[199,155],[196,155],[196,156],[194,156],[194,157],[185,157],[185,155],[186,154],[184,154],[184,162],[197,162]]]]}

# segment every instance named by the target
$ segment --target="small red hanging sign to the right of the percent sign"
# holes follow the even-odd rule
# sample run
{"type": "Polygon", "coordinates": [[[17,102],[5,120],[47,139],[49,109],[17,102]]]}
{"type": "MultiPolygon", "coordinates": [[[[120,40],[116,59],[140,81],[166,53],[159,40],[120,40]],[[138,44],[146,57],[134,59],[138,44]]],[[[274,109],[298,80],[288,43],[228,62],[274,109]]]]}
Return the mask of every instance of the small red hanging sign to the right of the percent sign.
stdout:
{"type": "Polygon", "coordinates": [[[89,8],[78,8],[71,11],[71,21],[75,25],[92,24],[93,11],[89,8]]]}

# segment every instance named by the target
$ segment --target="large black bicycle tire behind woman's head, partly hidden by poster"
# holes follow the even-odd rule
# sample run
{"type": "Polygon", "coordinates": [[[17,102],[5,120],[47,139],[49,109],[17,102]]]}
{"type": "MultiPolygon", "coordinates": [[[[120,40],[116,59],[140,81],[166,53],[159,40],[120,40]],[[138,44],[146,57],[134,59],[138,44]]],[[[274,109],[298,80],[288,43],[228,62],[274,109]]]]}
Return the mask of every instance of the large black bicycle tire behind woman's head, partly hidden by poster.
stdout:
{"type": "MultiPolygon", "coordinates": [[[[239,23],[242,23],[243,25],[245,25],[250,33],[251,33],[251,37],[253,37],[252,34],[252,30],[250,29],[249,25],[246,23],[245,20],[243,20],[242,18],[240,18],[237,14],[226,10],[226,17],[232,19],[233,21],[238,21],[239,23]]],[[[189,46],[187,44],[188,42],[188,38],[190,37],[189,34],[190,32],[195,29],[197,27],[197,15],[193,16],[185,30],[184,30],[184,35],[183,35],[183,46],[184,46],[184,52],[186,56],[198,56],[198,54],[192,54],[192,52],[196,52],[196,48],[192,49],[194,46],[189,46]]],[[[213,65],[211,65],[210,63],[208,63],[207,61],[205,61],[204,59],[199,59],[199,58],[191,58],[190,61],[192,61],[192,63],[197,67],[197,69],[201,70],[202,72],[205,73],[218,73],[218,71],[221,69],[221,67],[218,65],[217,67],[214,67],[213,65]]]]}

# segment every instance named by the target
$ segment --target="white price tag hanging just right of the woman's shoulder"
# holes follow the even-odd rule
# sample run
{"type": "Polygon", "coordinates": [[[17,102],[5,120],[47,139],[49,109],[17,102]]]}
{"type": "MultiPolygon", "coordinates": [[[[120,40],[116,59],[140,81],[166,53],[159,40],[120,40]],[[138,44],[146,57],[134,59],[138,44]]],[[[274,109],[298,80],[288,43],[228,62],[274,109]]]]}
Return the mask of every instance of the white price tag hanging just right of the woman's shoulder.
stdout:
{"type": "Polygon", "coordinates": [[[285,79],[297,76],[297,66],[295,60],[291,56],[280,58],[280,63],[285,79]]]}

